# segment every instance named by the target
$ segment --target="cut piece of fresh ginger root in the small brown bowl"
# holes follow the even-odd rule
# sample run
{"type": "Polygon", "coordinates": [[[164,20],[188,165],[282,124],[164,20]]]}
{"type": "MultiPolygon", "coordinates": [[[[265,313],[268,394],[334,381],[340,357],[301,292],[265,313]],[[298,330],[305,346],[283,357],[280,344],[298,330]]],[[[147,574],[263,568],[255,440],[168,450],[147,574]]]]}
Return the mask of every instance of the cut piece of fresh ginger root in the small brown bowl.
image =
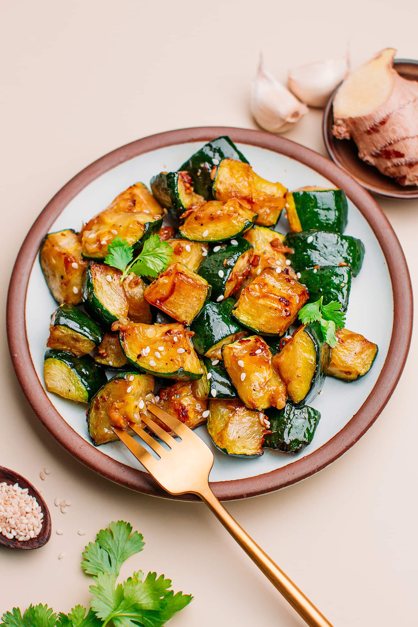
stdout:
{"type": "Polygon", "coordinates": [[[358,156],[396,179],[418,185],[418,82],[394,70],[386,48],[347,76],[333,102],[333,135],[352,138],[358,156]]]}

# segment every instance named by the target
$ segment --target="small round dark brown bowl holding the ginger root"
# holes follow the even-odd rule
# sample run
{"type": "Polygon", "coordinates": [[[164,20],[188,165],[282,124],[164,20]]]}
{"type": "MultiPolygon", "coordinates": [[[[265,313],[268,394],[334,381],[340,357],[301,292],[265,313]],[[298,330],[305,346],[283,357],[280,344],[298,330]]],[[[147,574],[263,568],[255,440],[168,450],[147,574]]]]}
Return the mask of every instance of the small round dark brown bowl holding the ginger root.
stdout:
{"type": "MultiPolygon", "coordinates": [[[[418,80],[418,60],[395,59],[395,70],[409,80],[418,80]]],[[[358,157],[358,149],[352,139],[337,139],[332,134],[333,112],[332,102],[339,86],[332,93],[323,113],[322,135],[328,153],[334,163],[350,174],[365,189],[386,198],[412,199],[418,198],[418,186],[402,186],[389,176],[380,174],[374,166],[358,157]]]]}

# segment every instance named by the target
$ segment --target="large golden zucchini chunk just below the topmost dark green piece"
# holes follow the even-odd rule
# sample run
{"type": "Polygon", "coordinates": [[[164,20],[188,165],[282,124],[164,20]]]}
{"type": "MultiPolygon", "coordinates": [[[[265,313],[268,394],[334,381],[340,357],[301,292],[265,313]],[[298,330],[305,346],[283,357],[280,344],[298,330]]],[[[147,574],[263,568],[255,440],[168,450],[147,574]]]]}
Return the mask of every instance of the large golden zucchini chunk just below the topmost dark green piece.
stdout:
{"type": "Polygon", "coordinates": [[[222,159],[213,182],[213,195],[223,202],[239,198],[257,214],[257,224],[273,226],[286,206],[286,187],[261,178],[248,163],[222,159]]]}

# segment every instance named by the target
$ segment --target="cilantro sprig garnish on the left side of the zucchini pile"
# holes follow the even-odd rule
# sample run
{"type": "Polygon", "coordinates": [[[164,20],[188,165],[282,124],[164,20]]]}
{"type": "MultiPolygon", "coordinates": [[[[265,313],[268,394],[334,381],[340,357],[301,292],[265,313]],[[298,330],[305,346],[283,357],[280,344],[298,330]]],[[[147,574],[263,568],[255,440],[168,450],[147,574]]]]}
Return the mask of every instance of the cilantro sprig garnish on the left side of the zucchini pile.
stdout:
{"type": "Polygon", "coordinates": [[[121,283],[130,272],[138,277],[157,278],[159,274],[167,270],[173,254],[172,247],[166,241],[160,240],[157,233],[145,240],[142,251],[135,259],[132,246],[120,236],[113,238],[107,250],[105,263],[122,271],[121,283]]]}

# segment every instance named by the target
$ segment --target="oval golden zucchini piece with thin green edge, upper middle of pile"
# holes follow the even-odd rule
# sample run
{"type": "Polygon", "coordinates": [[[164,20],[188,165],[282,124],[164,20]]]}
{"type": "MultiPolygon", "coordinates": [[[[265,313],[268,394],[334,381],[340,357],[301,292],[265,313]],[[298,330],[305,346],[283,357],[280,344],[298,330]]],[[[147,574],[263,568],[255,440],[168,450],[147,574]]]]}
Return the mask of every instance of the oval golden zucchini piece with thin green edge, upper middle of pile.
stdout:
{"type": "Polygon", "coordinates": [[[186,240],[224,241],[245,233],[257,214],[247,204],[233,198],[226,203],[212,200],[192,205],[180,218],[179,233],[186,240]]]}

